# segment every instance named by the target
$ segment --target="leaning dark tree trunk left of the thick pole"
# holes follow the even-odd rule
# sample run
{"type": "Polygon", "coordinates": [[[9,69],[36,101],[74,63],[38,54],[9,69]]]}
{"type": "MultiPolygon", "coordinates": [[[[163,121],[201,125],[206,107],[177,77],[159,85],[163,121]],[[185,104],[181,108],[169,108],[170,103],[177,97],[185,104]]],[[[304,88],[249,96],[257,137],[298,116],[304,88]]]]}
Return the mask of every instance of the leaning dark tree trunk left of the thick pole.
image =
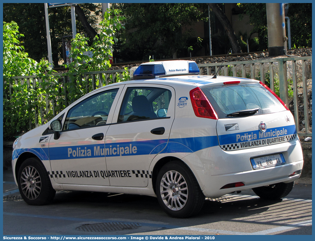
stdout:
{"type": "Polygon", "coordinates": [[[226,15],[223,13],[223,11],[219,8],[217,3],[208,3],[210,9],[212,12],[217,16],[219,21],[224,27],[224,30],[229,37],[230,43],[232,45],[233,53],[242,53],[241,46],[238,43],[238,40],[236,38],[235,32],[231,26],[230,21],[226,17],[226,15]]]}

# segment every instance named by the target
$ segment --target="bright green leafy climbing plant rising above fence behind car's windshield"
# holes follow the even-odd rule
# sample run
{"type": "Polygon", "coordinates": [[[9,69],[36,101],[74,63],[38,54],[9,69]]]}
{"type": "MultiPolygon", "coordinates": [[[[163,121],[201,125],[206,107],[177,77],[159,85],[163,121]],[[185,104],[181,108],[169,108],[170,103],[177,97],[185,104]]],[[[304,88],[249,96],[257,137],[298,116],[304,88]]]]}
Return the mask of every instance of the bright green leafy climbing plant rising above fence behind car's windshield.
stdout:
{"type": "MultiPolygon", "coordinates": [[[[82,34],[77,34],[76,38],[72,39],[69,55],[72,62],[64,65],[66,68],[69,68],[67,75],[70,81],[66,84],[67,90],[69,90],[69,100],[77,100],[85,94],[86,86],[89,83],[85,78],[82,78],[81,74],[84,72],[104,71],[111,67],[111,46],[114,44],[114,41],[117,41],[115,34],[123,28],[121,21],[124,20],[124,17],[119,14],[120,11],[117,9],[105,12],[104,19],[108,20],[100,22],[99,35],[94,38],[92,46],[88,45],[89,38],[82,34]],[[91,53],[90,56],[88,52],[91,53]]],[[[104,79],[102,77],[103,81],[104,79]]],[[[127,77],[118,77],[117,79],[118,81],[124,81],[127,77]]],[[[100,79],[97,78],[97,85],[99,85],[99,81],[100,79]]],[[[102,85],[105,85],[105,82],[102,85]]]]}

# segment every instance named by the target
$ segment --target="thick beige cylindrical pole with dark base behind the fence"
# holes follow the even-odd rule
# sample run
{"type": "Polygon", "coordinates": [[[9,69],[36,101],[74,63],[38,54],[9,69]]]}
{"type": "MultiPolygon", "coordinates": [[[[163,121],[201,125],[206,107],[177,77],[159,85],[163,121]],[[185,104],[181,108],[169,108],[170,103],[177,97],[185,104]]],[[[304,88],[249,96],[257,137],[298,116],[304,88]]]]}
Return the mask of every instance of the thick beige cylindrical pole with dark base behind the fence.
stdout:
{"type": "Polygon", "coordinates": [[[284,4],[266,3],[269,56],[285,54],[284,4]]]}

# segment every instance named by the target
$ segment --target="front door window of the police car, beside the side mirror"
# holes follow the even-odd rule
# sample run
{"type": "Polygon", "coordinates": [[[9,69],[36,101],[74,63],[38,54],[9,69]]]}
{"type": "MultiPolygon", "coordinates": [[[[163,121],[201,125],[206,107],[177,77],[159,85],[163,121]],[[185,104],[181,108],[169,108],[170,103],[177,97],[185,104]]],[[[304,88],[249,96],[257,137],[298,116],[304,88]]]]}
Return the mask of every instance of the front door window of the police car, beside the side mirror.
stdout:
{"type": "Polygon", "coordinates": [[[71,108],[63,130],[105,125],[118,89],[93,95],[71,108]]]}

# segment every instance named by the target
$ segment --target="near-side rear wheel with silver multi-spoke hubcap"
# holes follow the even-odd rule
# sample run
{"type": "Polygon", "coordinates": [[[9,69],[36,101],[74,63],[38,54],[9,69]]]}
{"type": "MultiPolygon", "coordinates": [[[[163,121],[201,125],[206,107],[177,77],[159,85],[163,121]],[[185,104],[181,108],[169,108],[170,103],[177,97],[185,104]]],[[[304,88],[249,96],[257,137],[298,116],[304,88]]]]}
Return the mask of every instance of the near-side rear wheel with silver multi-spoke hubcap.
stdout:
{"type": "Polygon", "coordinates": [[[161,168],[156,194],[160,206],[175,218],[196,215],[205,198],[192,171],[179,161],[168,162],[161,168]]]}

